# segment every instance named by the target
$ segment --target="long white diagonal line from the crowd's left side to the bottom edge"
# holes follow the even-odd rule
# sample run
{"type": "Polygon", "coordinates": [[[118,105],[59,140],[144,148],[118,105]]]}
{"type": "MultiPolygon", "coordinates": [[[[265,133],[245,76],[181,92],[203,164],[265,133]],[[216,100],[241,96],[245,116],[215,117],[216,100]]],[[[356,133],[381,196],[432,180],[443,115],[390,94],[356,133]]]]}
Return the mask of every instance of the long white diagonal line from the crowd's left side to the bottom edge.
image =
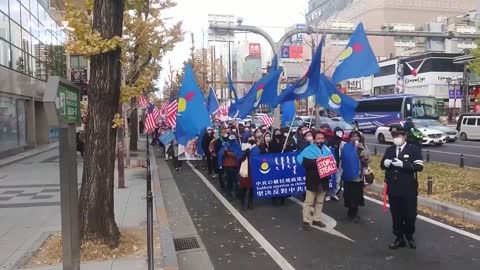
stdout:
{"type": "Polygon", "coordinates": [[[278,264],[280,269],[295,270],[295,268],[293,268],[293,266],[282,256],[282,254],[280,254],[280,252],[278,252],[278,250],[276,250],[267,241],[267,239],[265,239],[265,237],[263,237],[263,235],[261,235],[255,229],[255,227],[253,227],[252,224],[250,224],[250,222],[248,222],[248,220],[245,219],[242,216],[242,214],[240,214],[238,210],[235,209],[235,207],[233,207],[232,204],[230,204],[230,202],[228,202],[222,196],[222,194],[220,194],[217,191],[217,189],[210,183],[210,181],[208,181],[207,178],[205,178],[205,176],[203,176],[202,173],[200,173],[197,169],[195,169],[195,167],[190,163],[190,161],[187,161],[187,164],[188,166],[190,166],[190,168],[192,168],[192,170],[197,174],[197,176],[200,177],[200,179],[202,179],[203,183],[210,189],[210,191],[212,191],[215,197],[217,197],[217,199],[220,202],[222,202],[225,208],[227,208],[227,210],[230,211],[230,213],[232,213],[232,215],[238,220],[238,222],[242,224],[245,230],[247,230],[252,235],[252,237],[263,247],[263,249],[270,255],[270,257],[272,257],[272,259],[278,264]]]}

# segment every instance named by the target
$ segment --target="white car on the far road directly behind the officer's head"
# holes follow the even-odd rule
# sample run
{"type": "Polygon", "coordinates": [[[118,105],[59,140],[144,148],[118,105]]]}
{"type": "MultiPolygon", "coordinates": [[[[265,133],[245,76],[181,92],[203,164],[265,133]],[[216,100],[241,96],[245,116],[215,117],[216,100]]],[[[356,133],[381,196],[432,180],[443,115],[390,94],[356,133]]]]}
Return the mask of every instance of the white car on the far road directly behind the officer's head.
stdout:
{"type": "MultiPolygon", "coordinates": [[[[405,122],[402,122],[401,125],[403,126],[405,122]]],[[[398,124],[394,124],[398,125],[398,124]]],[[[446,142],[447,138],[445,134],[441,131],[436,129],[431,129],[426,127],[425,125],[414,122],[415,128],[422,132],[423,139],[422,145],[442,145],[446,142]]],[[[375,132],[375,137],[378,139],[379,143],[390,143],[393,142],[393,137],[390,132],[390,126],[383,126],[378,127],[377,131],[375,132]]]]}

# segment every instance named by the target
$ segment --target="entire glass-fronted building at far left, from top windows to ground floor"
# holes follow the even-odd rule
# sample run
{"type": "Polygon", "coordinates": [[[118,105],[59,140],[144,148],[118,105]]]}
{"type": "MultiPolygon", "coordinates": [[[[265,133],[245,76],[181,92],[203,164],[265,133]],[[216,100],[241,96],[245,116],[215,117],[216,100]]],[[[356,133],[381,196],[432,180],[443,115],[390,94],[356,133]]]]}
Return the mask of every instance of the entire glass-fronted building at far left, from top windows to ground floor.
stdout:
{"type": "Polygon", "coordinates": [[[56,139],[43,98],[49,76],[66,76],[66,33],[52,14],[47,0],[0,1],[0,156],[56,139]]]}

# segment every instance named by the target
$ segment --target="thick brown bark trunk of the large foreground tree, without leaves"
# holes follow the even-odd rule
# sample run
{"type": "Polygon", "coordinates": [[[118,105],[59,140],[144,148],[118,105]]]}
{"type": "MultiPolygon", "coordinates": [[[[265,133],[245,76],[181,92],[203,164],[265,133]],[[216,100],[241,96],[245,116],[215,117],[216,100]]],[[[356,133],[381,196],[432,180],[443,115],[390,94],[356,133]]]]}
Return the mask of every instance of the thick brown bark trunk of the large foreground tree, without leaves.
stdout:
{"type": "MultiPolygon", "coordinates": [[[[93,29],[104,38],[122,36],[123,9],[123,0],[95,1],[93,29]]],[[[110,247],[117,247],[120,239],[113,204],[116,130],[112,128],[122,81],[120,53],[117,49],[91,58],[79,206],[82,240],[100,241],[110,247]]]]}

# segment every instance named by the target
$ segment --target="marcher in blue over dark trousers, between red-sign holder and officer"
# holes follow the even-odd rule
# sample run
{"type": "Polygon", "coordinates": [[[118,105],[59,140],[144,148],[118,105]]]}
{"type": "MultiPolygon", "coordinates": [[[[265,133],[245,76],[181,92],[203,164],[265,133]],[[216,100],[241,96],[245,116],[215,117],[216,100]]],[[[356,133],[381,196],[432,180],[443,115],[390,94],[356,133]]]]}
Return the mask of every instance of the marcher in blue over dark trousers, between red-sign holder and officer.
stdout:
{"type": "Polygon", "coordinates": [[[358,208],[365,205],[363,198],[362,161],[368,159],[365,149],[360,143],[360,132],[350,132],[350,141],[346,143],[341,152],[343,200],[348,208],[347,216],[354,223],[360,222],[358,208]]]}

